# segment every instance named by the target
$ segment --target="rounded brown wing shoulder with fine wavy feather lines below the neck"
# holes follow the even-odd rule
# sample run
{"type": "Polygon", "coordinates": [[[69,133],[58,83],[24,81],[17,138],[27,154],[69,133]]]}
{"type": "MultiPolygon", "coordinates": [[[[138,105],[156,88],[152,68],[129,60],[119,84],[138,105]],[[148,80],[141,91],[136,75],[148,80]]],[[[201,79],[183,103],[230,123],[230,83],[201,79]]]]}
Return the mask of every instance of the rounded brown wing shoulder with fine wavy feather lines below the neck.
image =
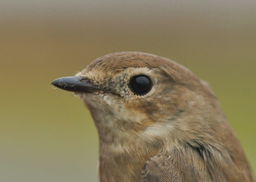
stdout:
{"type": "Polygon", "coordinates": [[[183,156],[177,152],[158,154],[145,163],[141,182],[212,181],[200,156],[183,156]]]}

